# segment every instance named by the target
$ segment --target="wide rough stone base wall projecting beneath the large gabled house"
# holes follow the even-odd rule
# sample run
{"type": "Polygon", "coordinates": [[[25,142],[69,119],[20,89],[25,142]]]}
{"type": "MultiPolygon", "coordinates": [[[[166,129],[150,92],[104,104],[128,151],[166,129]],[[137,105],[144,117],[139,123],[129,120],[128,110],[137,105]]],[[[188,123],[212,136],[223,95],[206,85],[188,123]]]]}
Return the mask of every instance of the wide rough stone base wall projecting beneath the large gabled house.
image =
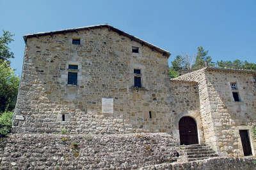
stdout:
{"type": "Polygon", "coordinates": [[[0,169],[135,169],[175,162],[166,133],[115,135],[13,134],[0,169]]]}

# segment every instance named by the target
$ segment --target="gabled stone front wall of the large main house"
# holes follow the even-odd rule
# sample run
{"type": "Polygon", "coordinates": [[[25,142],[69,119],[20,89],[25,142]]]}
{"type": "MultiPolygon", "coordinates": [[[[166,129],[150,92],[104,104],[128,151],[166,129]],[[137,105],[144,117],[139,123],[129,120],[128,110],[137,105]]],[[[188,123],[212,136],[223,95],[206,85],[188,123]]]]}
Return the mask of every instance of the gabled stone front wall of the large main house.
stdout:
{"type": "Polygon", "coordinates": [[[147,122],[149,110],[170,115],[166,80],[162,53],[106,28],[28,38],[13,132],[170,131],[163,118],[147,122]],[[81,45],[72,45],[72,38],[81,38],[81,45]],[[132,53],[132,46],[140,53],[132,53]],[[77,86],[67,85],[68,64],[79,66],[77,86]],[[142,72],[138,90],[132,88],[133,69],[142,72]],[[145,101],[138,102],[142,96],[145,101]],[[113,113],[102,114],[102,97],[113,97],[113,113]],[[61,122],[62,114],[67,121],[61,122]]]}

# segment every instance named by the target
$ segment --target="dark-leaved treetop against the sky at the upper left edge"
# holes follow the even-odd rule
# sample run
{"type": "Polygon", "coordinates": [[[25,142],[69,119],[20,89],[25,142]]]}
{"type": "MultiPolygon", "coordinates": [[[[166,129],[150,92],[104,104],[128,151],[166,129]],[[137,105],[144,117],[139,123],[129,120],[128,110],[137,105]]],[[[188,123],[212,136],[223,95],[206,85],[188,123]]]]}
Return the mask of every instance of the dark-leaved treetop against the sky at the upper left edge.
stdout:
{"type": "Polygon", "coordinates": [[[13,36],[14,34],[9,31],[3,31],[3,35],[0,36],[0,62],[6,60],[10,64],[9,59],[14,58],[13,52],[10,52],[8,47],[9,43],[13,41],[13,36]]]}

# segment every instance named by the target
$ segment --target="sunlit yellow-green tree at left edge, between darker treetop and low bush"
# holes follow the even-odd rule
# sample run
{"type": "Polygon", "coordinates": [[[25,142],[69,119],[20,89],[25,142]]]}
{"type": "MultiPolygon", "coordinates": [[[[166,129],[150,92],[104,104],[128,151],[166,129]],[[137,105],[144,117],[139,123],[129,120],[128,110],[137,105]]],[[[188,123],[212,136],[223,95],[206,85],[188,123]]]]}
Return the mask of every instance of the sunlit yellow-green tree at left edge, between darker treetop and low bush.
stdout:
{"type": "Polygon", "coordinates": [[[8,61],[0,62],[0,113],[15,108],[19,77],[15,76],[8,61]]]}

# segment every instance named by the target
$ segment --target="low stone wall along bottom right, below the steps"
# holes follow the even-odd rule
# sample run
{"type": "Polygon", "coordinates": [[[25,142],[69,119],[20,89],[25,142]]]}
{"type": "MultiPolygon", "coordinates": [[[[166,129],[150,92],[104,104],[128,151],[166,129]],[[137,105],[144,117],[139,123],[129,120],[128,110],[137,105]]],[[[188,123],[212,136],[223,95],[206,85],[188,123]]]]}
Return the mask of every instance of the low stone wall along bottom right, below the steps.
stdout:
{"type": "Polygon", "coordinates": [[[155,166],[141,167],[140,169],[189,169],[189,170],[254,170],[256,169],[253,158],[217,157],[212,159],[198,160],[194,162],[164,163],[155,166]]]}

